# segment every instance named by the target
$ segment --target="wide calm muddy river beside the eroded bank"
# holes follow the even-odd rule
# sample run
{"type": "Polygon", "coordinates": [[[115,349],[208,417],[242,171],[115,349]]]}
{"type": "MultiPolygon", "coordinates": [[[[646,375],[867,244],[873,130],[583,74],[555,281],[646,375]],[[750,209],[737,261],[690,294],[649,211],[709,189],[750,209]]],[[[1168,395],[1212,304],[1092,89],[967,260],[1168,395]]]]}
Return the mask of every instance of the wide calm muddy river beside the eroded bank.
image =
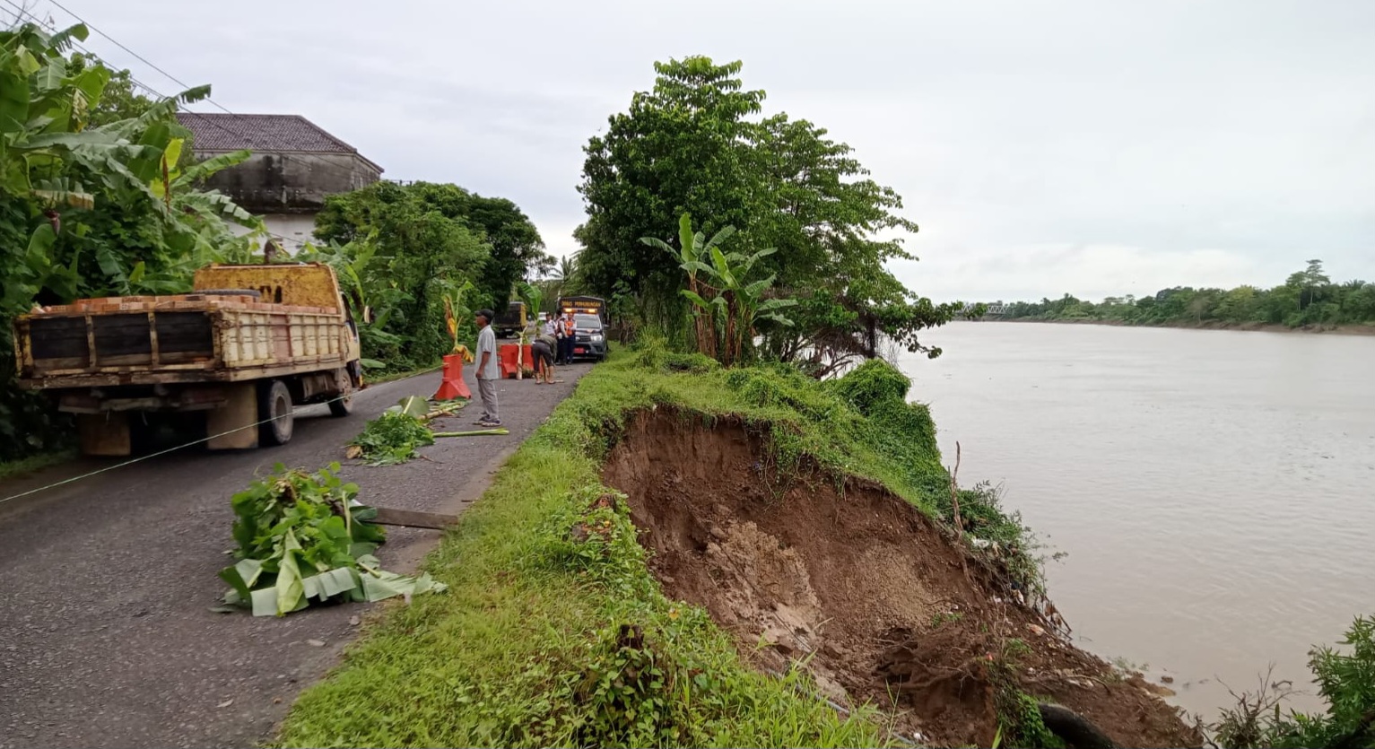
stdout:
{"type": "Polygon", "coordinates": [[[1005,485],[1056,550],[1079,643],[1226,686],[1309,690],[1312,643],[1375,613],[1375,338],[956,323],[905,357],[961,484],[1005,485]]]}

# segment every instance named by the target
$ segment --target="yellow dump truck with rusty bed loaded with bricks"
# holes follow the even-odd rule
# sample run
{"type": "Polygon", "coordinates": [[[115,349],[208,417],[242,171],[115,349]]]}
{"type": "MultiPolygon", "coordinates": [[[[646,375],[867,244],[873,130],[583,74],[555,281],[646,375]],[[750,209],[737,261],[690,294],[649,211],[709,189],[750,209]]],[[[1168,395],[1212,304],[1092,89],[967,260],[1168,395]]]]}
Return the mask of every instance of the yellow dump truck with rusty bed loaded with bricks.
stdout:
{"type": "Polygon", "coordinates": [[[318,262],[209,265],[188,294],[34,309],[15,349],[19,386],[76,414],[87,455],[129,455],[166,412],[204,414],[210,449],[285,444],[294,405],[346,416],[363,385],[358,326],[318,262]]]}

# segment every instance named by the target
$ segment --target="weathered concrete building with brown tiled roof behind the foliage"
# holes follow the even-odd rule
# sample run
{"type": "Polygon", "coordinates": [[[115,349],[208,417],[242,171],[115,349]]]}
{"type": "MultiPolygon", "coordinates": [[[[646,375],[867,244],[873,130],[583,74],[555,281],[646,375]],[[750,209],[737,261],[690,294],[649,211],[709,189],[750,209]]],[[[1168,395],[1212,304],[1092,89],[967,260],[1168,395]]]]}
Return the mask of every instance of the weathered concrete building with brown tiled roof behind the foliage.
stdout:
{"type": "Polygon", "coordinates": [[[367,187],[382,168],[298,114],[177,113],[197,158],[248,150],[253,155],[210,177],[206,187],[263,216],[279,245],[294,253],[315,231],[324,198],[367,187]]]}

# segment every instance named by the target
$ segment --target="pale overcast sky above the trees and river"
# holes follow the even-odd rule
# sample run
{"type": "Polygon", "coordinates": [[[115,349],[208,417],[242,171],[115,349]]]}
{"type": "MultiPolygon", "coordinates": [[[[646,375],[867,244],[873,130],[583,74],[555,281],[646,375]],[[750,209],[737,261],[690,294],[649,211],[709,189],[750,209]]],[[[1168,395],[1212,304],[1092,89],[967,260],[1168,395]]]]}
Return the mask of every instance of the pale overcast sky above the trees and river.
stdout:
{"type": "Polygon", "coordinates": [[[1372,0],[59,1],[232,111],[512,198],[554,254],[587,137],[656,59],[705,54],[902,194],[921,261],[894,271],[935,300],[1269,286],[1312,257],[1375,280],[1372,0]]]}

